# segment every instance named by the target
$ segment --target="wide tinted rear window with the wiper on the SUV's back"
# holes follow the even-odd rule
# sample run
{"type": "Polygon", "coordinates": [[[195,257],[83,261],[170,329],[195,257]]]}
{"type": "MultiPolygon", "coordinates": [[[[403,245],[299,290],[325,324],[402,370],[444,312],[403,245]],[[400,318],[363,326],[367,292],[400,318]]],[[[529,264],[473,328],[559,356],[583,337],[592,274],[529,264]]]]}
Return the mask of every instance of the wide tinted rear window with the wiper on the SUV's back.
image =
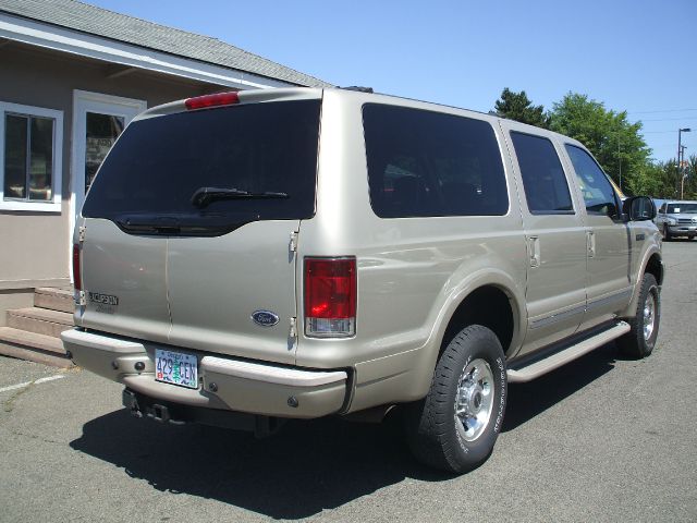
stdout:
{"type": "Polygon", "coordinates": [[[319,112],[320,100],[302,100],[136,121],[102,163],[83,216],[134,232],[310,218],[319,112]],[[201,190],[217,194],[196,200],[201,190]]]}

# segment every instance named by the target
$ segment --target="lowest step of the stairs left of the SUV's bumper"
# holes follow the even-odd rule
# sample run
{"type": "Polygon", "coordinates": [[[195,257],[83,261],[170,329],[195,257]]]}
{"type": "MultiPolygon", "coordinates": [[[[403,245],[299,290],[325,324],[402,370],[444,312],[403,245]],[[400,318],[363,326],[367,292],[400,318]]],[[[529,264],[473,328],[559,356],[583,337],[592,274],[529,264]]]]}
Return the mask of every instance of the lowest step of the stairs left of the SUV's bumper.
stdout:
{"type": "Polygon", "coordinates": [[[0,354],[54,367],[74,366],[60,339],[12,327],[0,327],[0,354]]]}

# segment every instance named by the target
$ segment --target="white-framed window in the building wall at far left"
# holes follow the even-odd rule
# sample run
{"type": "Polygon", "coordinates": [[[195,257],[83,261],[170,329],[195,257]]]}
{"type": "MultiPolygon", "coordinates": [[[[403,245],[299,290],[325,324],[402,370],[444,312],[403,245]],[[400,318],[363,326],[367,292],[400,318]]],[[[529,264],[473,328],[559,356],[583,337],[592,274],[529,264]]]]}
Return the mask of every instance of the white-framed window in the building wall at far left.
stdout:
{"type": "Polygon", "coordinates": [[[0,210],[60,212],[63,111],[0,101],[0,210]]]}

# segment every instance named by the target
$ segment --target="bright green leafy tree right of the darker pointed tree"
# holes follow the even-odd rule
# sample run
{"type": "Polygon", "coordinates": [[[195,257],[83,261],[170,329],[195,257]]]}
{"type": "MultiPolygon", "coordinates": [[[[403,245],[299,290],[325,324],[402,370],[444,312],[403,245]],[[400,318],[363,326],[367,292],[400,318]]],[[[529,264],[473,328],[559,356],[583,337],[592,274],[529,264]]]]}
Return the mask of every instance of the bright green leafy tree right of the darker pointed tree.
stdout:
{"type": "Polygon", "coordinates": [[[550,129],[588,147],[617,184],[622,172],[622,187],[637,194],[635,187],[656,185],[649,180],[657,171],[649,168],[651,149],[640,134],[641,122],[629,123],[626,111],[608,110],[587,95],[568,93],[553,105],[549,118],[550,129]]]}

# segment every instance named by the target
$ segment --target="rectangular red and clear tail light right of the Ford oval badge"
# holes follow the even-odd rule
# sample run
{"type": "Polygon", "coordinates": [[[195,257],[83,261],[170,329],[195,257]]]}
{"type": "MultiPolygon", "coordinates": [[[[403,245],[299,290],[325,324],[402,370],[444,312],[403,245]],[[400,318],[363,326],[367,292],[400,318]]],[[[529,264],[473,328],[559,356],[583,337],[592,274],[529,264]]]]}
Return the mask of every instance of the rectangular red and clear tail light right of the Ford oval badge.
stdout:
{"type": "Polygon", "coordinates": [[[356,333],[356,258],[305,258],[305,335],[356,333]]]}

